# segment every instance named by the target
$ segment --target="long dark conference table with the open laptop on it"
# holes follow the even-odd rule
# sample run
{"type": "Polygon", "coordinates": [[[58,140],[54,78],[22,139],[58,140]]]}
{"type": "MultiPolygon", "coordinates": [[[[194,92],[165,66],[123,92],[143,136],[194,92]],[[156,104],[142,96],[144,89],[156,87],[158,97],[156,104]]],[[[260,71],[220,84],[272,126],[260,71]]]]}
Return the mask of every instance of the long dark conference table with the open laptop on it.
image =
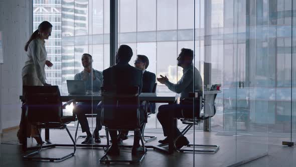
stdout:
{"type": "MultiPolygon", "coordinates": [[[[139,95],[139,101],[149,101],[149,102],[154,102],[154,103],[168,103],[168,104],[174,104],[177,102],[179,98],[179,95],[176,93],[141,93],[139,95]]],[[[22,102],[25,101],[23,96],[20,96],[20,100],[22,102]]],[[[70,94],[61,94],[61,101],[62,102],[68,102],[70,100],[75,100],[75,102],[97,102],[102,100],[102,96],[100,93],[92,93],[92,94],[85,94],[85,95],[70,95],[70,94]]],[[[23,109],[25,110],[25,109],[23,109]]],[[[177,124],[177,119],[172,119],[171,120],[171,127],[176,127],[173,126],[174,124],[177,124]]],[[[170,141],[169,141],[169,148],[164,148],[162,146],[158,145],[145,145],[147,148],[154,148],[156,150],[166,152],[166,153],[173,153],[174,152],[174,140],[171,135],[174,135],[173,133],[176,132],[175,129],[171,129],[170,133],[168,135],[170,141]]],[[[51,144],[50,142],[50,133],[49,129],[45,129],[45,141],[48,145],[51,144]]],[[[60,146],[73,146],[71,144],[59,144],[60,146]]],[[[87,147],[87,146],[92,146],[92,147],[106,147],[106,145],[99,145],[99,144],[93,144],[93,145],[87,145],[87,144],[76,144],[77,147],[87,147]]],[[[27,149],[27,144],[25,144],[25,147],[27,149]]],[[[43,146],[46,147],[46,146],[43,146]]],[[[34,149],[32,147],[32,149],[34,149]]]]}

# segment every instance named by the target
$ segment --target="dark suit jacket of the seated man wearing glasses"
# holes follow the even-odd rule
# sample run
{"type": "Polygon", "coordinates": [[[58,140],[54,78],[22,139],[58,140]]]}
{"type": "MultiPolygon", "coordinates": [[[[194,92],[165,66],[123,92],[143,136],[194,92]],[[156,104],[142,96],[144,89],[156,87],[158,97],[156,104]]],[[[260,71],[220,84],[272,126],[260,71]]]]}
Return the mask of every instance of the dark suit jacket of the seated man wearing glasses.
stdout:
{"type": "MultiPolygon", "coordinates": [[[[156,82],[156,75],[152,72],[145,70],[143,73],[143,88],[142,93],[152,93],[153,87],[156,82]]],[[[156,106],[155,103],[150,103],[148,106],[149,112],[155,114],[156,106]]]]}

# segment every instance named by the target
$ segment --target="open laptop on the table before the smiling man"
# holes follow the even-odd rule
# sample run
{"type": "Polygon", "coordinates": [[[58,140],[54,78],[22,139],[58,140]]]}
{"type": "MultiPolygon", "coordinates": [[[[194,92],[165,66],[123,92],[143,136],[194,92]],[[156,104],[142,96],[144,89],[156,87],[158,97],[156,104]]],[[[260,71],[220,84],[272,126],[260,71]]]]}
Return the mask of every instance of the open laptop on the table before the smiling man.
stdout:
{"type": "Polygon", "coordinates": [[[67,80],[69,94],[84,95],[86,93],[84,80],[67,80]]]}

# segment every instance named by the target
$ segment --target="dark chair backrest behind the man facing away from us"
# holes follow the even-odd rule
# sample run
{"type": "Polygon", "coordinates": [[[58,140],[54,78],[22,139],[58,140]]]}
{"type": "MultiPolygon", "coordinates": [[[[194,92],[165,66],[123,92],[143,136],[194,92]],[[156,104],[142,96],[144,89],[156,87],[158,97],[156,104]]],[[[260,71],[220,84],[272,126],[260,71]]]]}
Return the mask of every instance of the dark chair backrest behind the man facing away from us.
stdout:
{"type": "Polygon", "coordinates": [[[109,129],[136,129],[139,121],[138,87],[102,87],[101,123],[109,129]]]}

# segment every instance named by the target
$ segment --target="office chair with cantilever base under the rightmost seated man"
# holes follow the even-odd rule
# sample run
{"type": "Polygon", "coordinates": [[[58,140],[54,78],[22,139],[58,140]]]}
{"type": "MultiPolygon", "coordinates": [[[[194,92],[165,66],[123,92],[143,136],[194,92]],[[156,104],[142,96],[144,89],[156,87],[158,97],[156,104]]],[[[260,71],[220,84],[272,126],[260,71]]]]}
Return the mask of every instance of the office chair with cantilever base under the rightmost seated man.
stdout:
{"type": "Polygon", "coordinates": [[[219,149],[219,145],[204,145],[204,144],[188,144],[185,147],[194,147],[194,149],[178,149],[176,147],[176,142],[178,138],[182,135],[185,135],[189,129],[194,126],[198,125],[204,120],[207,120],[216,114],[216,107],[215,107],[215,99],[217,94],[212,94],[208,96],[208,98],[205,100],[200,96],[200,94],[192,94],[193,97],[195,97],[194,105],[193,105],[193,110],[196,111],[196,117],[193,118],[186,118],[185,114],[183,114],[184,111],[182,111],[183,118],[180,120],[182,121],[183,124],[186,124],[186,128],[181,132],[181,134],[175,139],[174,141],[174,147],[176,150],[180,152],[196,152],[196,153],[215,153],[219,149]],[[204,108],[204,113],[201,114],[201,110],[204,108]],[[195,149],[195,147],[204,147],[204,148],[213,148],[211,150],[199,150],[195,149]]]}

